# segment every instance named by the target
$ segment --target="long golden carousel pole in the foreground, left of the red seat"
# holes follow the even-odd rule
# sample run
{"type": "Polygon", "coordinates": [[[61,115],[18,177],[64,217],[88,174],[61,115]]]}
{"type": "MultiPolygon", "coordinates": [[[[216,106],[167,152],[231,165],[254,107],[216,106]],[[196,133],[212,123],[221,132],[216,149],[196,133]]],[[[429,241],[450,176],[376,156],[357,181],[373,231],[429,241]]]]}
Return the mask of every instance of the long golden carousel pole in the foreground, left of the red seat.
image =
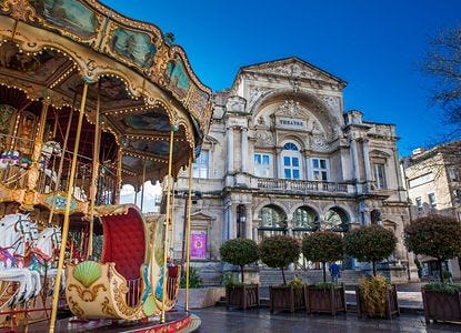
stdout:
{"type": "Polygon", "coordinates": [[[54,282],[53,303],[52,303],[50,330],[49,330],[50,333],[54,332],[56,317],[58,314],[59,290],[61,287],[62,266],[64,263],[66,243],[67,243],[68,233],[69,233],[70,201],[72,199],[72,190],[73,190],[72,188],[73,188],[73,179],[74,179],[73,175],[76,174],[77,155],[79,153],[80,134],[81,134],[81,127],[83,123],[84,103],[87,101],[87,92],[88,92],[88,83],[87,81],[84,81],[82,98],[80,102],[79,122],[77,125],[76,144],[73,145],[72,167],[70,170],[71,175],[69,179],[69,188],[68,188],[68,193],[67,193],[68,196],[66,201],[64,223],[62,226],[62,241],[61,241],[61,249],[59,252],[58,272],[57,272],[56,282],[54,282]]]}

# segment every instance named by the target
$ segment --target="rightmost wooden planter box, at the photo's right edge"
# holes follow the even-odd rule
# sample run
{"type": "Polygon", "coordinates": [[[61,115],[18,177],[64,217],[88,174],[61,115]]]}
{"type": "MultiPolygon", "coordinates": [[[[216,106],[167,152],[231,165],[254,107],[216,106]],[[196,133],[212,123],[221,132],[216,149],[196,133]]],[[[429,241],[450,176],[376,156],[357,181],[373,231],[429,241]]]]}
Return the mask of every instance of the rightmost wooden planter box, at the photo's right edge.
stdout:
{"type": "Polygon", "coordinates": [[[461,321],[461,292],[455,294],[434,291],[422,292],[425,322],[435,321],[461,321]]]}

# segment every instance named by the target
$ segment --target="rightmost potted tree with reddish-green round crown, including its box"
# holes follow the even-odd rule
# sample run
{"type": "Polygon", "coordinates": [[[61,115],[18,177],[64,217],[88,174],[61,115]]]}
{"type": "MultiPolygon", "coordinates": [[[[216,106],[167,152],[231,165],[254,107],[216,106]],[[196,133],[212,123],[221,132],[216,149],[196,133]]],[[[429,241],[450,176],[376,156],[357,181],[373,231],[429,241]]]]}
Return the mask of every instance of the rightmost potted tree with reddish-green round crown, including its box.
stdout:
{"type": "Polygon", "coordinates": [[[404,242],[415,254],[435,258],[440,282],[421,290],[425,322],[461,321],[461,285],[444,283],[442,263],[461,255],[461,225],[452,218],[431,214],[414,220],[404,229],[404,242]]]}

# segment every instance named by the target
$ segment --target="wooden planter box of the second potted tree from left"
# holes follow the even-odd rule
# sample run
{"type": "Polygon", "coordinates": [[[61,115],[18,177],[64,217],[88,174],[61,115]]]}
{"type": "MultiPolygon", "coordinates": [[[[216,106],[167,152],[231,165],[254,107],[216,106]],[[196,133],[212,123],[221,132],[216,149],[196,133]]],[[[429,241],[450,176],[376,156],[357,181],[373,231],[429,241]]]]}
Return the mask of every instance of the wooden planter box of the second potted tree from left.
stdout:
{"type": "Polygon", "coordinates": [[[305,309],[307,291],[305,285],[302,287],[292,286],[270,286],[270,310],[289,310],[293,313],[297,310],[305,309]]]}

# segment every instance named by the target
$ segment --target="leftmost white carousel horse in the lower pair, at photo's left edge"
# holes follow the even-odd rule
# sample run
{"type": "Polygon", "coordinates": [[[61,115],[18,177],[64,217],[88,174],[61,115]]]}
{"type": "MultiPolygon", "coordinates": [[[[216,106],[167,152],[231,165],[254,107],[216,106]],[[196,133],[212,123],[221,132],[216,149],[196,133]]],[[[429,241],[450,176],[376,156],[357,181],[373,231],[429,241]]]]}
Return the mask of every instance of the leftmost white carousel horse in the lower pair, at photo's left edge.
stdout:
{"type": "Polygon", "coordinates": [[[17,295],[11,303],[24,302],[39,294],[40,274],[23,268],[19,258],[26,254],[26,244],[32,243],[33,231],[29,215],[9,214],[0,220],[0,280],[19,282],[17,295]]]}

